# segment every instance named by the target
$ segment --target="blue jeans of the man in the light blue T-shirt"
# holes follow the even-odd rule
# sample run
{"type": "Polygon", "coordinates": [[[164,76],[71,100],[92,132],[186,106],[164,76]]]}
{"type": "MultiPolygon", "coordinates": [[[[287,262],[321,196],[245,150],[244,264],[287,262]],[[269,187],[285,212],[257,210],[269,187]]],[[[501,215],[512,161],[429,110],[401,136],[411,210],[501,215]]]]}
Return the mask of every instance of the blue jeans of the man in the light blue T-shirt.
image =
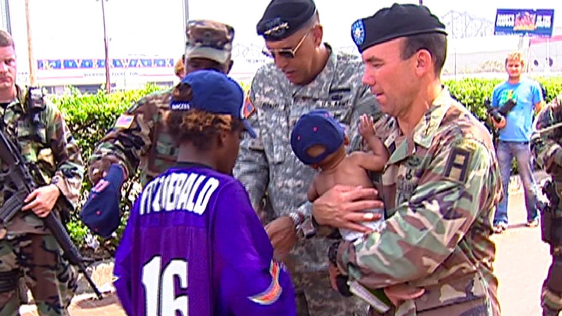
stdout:
{"type": "Polygon", "coordinates": [[[533,174],[531,149],[529,142],[504,142],[499,141],[496,149],[497,162],[500,166],[501,183],[504,189],[504,198],[496,208],[493,224],[507,224],[507,198],[509,197],[509,178],[511,177],[511,161],[515,156],[519,167],[519,176],[523,183],[525,208],[527,209],[527,222],[538,219],[537,214],[537,186],[533,174]]]}

